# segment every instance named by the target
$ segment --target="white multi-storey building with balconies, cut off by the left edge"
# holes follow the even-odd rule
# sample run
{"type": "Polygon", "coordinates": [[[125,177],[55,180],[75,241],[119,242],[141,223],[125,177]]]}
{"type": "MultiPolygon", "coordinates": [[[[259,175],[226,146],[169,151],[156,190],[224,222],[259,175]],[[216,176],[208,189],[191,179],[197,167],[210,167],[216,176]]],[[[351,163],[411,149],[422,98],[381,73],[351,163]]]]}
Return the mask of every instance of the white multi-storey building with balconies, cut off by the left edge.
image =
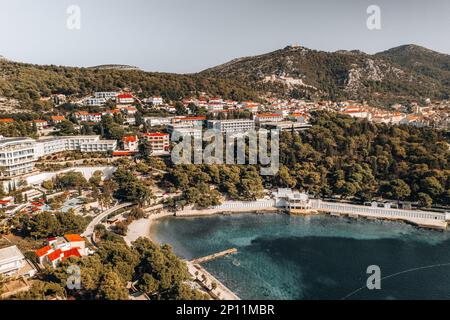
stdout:
{"type": "Polygon", "coordinates": [[[34,147],[35,140],[31,138],[0,136],[0,177],[9,178],[33,171],[34,147]]]}

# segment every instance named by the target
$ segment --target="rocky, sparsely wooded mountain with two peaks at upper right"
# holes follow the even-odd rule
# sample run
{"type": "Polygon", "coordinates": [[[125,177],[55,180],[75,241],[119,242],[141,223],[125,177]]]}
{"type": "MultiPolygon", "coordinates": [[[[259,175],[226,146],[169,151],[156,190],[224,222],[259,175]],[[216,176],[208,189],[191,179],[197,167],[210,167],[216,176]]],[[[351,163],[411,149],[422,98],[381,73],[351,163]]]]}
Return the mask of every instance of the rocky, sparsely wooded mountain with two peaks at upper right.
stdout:
{"type": "Polygon", "coordinates": [[[450,56],[415,45],[370,55],[288,46],[202,71],[277,95],[392,101],[450,95],[450,56]]]}

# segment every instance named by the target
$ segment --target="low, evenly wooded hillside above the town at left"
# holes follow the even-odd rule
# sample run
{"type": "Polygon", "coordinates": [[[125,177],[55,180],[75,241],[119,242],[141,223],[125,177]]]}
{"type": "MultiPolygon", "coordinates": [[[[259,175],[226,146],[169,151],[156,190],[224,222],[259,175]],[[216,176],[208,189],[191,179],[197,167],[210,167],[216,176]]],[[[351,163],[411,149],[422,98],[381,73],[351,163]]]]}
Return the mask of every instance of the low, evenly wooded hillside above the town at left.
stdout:
{"type": "Polygon", "coordinates": [[[140,70],[38,66],[0,60],[0,97],[17,99],[25,108],[52,94],[83,97],[94,91],[111,90],[129,90],[142,97],[161,95],[168,100],[180,100],[201,92],[236,100],[256,97],[254,90],[232,79],[140,70]]]}

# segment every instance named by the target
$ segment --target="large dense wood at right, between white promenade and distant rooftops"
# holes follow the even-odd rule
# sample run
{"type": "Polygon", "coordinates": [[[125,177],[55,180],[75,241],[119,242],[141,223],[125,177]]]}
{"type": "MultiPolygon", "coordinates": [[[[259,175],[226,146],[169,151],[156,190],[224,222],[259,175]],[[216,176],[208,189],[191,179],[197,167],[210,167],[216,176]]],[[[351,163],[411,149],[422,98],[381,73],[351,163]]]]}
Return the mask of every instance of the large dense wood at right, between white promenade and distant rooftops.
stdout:
{"type": "Polygon", "coordinates": [[[325,112],[315,113],[312,124],[300,135],[283,132],[276,185],[361,200],[380,196],[423,202],[427,195],[427,205],[430,199],[450,204],[445,133],[325,112]]]}

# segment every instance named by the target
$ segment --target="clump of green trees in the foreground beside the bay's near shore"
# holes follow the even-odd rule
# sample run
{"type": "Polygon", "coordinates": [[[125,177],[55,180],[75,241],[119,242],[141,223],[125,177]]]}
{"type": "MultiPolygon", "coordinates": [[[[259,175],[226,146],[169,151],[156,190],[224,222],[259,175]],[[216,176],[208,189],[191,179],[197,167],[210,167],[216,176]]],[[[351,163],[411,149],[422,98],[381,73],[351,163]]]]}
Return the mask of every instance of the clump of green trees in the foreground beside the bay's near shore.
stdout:
{"type": "Polygon", "coordinates": [[[44,299],[55,296],[75,299],[128,300],[128,282],[151,299],[198,300],[206,299],[202,293],[191,289],[187,281],[190,275],[186,264],[169,246],[159,246],[140,238],[133,247],[123,239],[102,241],[98,251],[81,258],[72,257],[61,262],[55,269],[43,271],[39,281],[25,293],[13,299],[44,299]],[[69,266],[80,268],[81,289],[66,286],[69,266]]]}

